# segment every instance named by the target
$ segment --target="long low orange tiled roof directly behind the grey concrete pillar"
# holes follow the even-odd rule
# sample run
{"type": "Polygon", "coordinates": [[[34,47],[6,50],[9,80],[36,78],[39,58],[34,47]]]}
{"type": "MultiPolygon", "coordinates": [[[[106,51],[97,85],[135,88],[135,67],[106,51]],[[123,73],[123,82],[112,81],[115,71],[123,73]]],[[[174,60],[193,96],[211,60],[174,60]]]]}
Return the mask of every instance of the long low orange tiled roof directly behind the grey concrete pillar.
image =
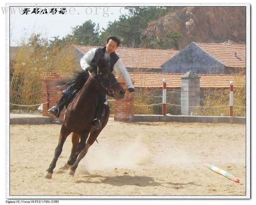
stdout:
{"type": "MultiPolygon", "coordinates": [[[[129,73],[134,81],[135,87],[161,88],[163,79],[167,80],[167,88],[181,87],[182,73],[129,73]]],[[[245,76],[241,75],[207,75],[199,74],[201,88],[228,88],[230,81],[234,81],[234,86],[245,85],[245,76]]]]}

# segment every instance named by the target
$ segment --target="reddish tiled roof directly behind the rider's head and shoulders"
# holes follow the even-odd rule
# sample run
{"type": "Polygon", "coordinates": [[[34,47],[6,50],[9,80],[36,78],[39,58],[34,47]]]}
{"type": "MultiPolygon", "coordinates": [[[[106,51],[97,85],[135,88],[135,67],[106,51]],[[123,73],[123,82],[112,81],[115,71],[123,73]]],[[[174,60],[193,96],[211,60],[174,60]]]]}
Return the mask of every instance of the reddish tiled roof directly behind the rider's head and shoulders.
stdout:
{"type": "MultiPolygon", "coordinates": [[[[87,53],[97,46],[79,46],[74,45],[83,53],[87,53]]],[[[161,65],[175,56],[179,50],[159,50],[159,49],[141,49],[141,48],[125,48],[118,47],[116,54],[122,59],[127,68],[148,68],[161,69],[161,65]]]]}

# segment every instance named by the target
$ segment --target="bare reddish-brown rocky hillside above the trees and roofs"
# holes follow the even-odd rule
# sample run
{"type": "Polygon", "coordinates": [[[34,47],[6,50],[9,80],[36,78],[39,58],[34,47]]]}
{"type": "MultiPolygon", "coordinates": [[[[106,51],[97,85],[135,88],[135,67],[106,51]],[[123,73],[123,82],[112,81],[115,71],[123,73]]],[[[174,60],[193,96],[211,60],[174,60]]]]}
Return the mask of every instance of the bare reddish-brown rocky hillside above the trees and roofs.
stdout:
{"type": "Polygon", "coordinates": [[[179,49],[192,41],[245,43],[245,7],[185,7],[150,22],[144,34],[165,39],[170,31],[181,33],[179,49]]]}

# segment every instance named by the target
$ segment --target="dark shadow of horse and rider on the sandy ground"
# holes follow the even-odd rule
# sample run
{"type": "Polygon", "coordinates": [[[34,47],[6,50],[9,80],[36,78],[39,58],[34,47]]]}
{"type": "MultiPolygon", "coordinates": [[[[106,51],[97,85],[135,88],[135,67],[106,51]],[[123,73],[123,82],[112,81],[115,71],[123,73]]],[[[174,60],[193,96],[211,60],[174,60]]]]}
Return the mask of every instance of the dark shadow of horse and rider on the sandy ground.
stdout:
{"type": "Polygon", "coordinates": [[[101,176],[101,175],[88,175],[84,176],[84,178],[87,178],[86,180],[79,180],[76,181],[76,183],[87,183],[87,184],[109,184],[113,186],[125,186],[125,185],[134,185],[134,186],[140,186],[140,187],[146,187],[146,186],[161,186],[161,183],[155,182],[154,179],[150,176],[129,176],[129,175],[123,175],[123,176],[101,176]],[[96,178],[99,177],[100,181],[90,181],[90,178],[96,178]],[[103,179],[102,179],[103,178],[103,179]]]}

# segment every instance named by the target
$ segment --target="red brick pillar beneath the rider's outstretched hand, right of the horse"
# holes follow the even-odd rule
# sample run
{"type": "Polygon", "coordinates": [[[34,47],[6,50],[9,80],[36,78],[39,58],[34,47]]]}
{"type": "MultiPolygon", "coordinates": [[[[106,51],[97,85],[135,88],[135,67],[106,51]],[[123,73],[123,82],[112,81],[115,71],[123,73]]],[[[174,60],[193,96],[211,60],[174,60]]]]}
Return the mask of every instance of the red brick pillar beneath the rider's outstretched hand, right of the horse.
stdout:
{"type": "Polygon", "coordinates": [[[134,116],[134,92],[129,92],[125,81],[118,82],[125,90],[125,96],[122,100],[114,102],[114,121],[131,122],[134,116]]]}

